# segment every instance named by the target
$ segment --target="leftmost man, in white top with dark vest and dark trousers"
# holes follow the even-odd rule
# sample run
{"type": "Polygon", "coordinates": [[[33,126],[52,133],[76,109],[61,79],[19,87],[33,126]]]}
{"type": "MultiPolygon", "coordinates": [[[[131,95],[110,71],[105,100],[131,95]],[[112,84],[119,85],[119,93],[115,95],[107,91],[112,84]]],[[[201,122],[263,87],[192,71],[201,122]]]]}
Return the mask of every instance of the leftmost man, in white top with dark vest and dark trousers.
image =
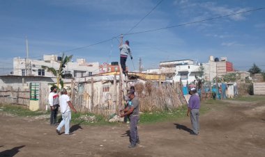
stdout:
{"type": "Polygon", "coordinates": [[[59,109],[59,94],[57,94],[56,86],[51,87],[51,92],[49,94],[48,101],[51,109],[50,124],[56,126],[57,114],[59,109]]]}

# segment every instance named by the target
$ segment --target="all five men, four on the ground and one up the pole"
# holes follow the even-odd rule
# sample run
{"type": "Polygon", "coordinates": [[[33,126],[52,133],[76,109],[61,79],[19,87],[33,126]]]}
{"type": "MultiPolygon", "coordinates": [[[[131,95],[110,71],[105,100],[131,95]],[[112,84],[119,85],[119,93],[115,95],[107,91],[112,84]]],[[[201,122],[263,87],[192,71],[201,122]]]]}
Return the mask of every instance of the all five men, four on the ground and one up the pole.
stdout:
{"type": "MultiPolygon", "coordinates": [[[[119,45],[119,49],[121,51],[121,67],[123,74],[126,74],[126,59],[128,58],[128,55],[130,55],[130,58],[132,59],[130,47],[129,47],[129,41],[126,40],[125,44],[122,44],[122,38],[121,43],[119,45]]],[[[188,101],[188,112],[187,116],[190,117],[190,121],[192,124],[192,132],[190,132],[191,135],[198,135],[199,134],[199,108],[200,108],[200,100],[199,96],[196,94],[196,89],[191,88],[190,89],[190,99],[188,101]]],[[[59,110],[59,107],[61,108],[61,115],[62,115],[62,121],[60,122],[59,126],[56,128],[56,133],[60,135],[60,131],[63,126],[65,126],[65,134],[71,135],[73,133],[70,133],[70,120],[71,120],[71,109],[76,113],[77,110],[75,110],[73,104],[70,101],[70,97],[67,95],[67,90],[62,89],[61,95],[57,94],[57,88],[53,86],[51,88],[51,92],[49,94],[49,104],[51,109],[51,116],[50,116],[50,124],[56,125],[56,117],[59,110]]],[[[139,144],[139,135],[137,131],[137,124],[139,122],[139,99],[137,96],[135,96],[135,88],[132,86],[130,88],[130,91],[127,94],[126,99],[126,107],[122,110],[119,110],[121,115],[120,117],[125,117],[125,121],[127,119],[130,119],[130,145],[129,148],[136,147],[136,144],[139,144]]]]}

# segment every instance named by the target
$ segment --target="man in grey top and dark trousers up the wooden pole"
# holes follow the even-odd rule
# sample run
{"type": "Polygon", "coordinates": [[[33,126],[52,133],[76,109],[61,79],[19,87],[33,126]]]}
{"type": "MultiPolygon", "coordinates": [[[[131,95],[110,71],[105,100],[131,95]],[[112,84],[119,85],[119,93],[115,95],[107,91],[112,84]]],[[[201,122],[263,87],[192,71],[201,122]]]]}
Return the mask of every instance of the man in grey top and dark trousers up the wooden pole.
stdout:
{"type": "Polygon", "coordinates": [[[122,72],[125,75],[126,75],[126,60],[128,55],[130,55],[130,59],[132,59],[132,53],[130,51],[129,45],[130,43],[128,40],[126,40],[125,44],[123,44],[123,35],[121,35],[121,42],[119,44],[119,49],[121,51],[120,63],[121,63],[122,72]]]}

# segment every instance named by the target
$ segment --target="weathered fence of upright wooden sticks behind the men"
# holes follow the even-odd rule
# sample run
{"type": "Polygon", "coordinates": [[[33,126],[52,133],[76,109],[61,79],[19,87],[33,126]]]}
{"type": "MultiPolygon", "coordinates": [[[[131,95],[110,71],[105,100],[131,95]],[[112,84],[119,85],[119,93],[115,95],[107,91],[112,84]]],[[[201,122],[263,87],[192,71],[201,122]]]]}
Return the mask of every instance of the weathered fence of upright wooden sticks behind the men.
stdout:
{"type": "MultiPolygon", "coordinates": [[[[135,85],[135,93],[139,97],[140,111],[164,110],[177,108],[185,104],[182,87],[179,83],[130,82],[135,85]]],[[[47,97],[49,89],[40,85],[40,110],[47,108],[47,97]]],[[[78,112],[94,113],[109,116],[119,113],[123,108],[124,101],[119,101],[119,83],[116,81],[88,81],[85,83],[73,83],[71,91],[68,91],[73,105],[78,112]]],[[[0,90],[0,101],[2,104],[21,104],[29,106],[30,92],[27,90],[13,90],[13,88],[2,88],[0,90]]]]}

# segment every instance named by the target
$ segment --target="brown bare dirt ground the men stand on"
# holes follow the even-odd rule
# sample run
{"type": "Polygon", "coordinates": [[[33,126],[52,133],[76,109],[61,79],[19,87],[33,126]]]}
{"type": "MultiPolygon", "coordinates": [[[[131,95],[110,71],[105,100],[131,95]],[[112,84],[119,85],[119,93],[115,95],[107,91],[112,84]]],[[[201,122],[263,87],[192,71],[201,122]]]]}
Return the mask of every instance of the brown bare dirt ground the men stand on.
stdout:
{"type": "Polygon", "coordinates": [[[265,104],[225,101],[200,116],[201,131],[190,135],[190,119],[140,124],[140,144],[128,149],[128,124],[72,126],[74,135],[57,135],[55,126],[0,111],[0,156],[264,156],[265,104]]]}

